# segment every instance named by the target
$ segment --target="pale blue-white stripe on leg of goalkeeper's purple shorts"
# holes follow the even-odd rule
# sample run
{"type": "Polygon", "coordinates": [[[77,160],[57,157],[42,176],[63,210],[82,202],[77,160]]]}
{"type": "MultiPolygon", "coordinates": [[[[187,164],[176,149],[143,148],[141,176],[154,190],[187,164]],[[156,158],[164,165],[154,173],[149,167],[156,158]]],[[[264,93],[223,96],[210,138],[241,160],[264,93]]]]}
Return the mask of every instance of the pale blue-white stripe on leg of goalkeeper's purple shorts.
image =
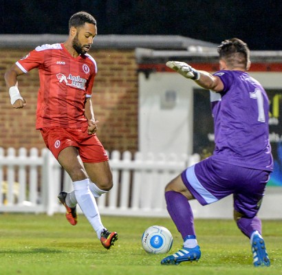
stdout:
{"type": "Polygon", "coordinates": [[[209,204],[218,201],[218,199],[213,194],[210,194],[210,192],[208,192],[208,190],[206,190],[206,188],[204,188],[197,179],[195,174],[195,165],[186,169],[186,179],[195,191],[206,201],[206,203],[209,204]]]}

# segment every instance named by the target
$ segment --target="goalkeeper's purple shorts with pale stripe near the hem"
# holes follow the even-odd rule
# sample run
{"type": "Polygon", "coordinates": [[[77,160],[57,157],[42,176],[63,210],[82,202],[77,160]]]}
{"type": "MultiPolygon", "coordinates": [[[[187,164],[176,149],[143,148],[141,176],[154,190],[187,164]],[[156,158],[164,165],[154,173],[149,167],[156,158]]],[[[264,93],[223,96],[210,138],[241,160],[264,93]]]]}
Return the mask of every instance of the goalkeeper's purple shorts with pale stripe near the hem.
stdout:
{"type": "Polygon", "coordinates": [[[234,209],[252,218],[261,206],[270,172],[226,164],[208,157],[188,167],[181,176],[202,206],[233,194],[234,209]]]}

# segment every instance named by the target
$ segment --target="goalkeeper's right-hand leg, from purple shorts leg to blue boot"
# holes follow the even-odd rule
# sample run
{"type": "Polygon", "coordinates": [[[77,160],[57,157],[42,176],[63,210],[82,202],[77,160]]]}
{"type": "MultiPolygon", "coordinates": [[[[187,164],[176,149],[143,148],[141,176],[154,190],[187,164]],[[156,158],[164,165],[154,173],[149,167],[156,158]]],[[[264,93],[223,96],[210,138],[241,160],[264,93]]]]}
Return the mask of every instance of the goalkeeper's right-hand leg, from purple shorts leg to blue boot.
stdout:
{"type": "Polygon", "coordinates": [[[262,237],[261,219],[257,217],[269,177],[268,172],[246,168],[241,173],[246,173],[246,181],[240,186],[241,192],[233,196],[234,219],[241,232],[250,239],[254,266],[269,266],[270,259],[262,237]]]}

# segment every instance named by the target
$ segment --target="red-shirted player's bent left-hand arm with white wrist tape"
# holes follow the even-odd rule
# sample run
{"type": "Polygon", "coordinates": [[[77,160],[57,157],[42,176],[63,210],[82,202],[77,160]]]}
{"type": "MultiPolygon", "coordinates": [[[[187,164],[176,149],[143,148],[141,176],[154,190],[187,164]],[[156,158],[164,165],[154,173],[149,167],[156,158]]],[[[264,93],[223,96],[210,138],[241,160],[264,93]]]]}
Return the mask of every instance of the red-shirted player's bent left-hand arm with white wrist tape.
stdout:
{"type": "Polygon", "coordinates": [[[16,109],[25,107],[25,100],[18,89],[17,77],[21,76],[21,74],[24,74],[24,72],[15,64],[5,73],[5,81],[9,89],[11,104],[16,109]]]}

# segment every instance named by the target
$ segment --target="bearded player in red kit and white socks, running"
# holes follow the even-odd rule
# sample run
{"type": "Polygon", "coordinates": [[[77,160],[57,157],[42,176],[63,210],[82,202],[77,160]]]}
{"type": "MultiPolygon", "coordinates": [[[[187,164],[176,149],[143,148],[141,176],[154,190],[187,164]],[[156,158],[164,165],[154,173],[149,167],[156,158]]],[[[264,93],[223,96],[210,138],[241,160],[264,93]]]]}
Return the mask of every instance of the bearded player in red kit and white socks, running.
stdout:
{"type": "Polygon", "coordinates": [[[87,12],[69,19],[65,43],[41,45],[21,58],[6,72],[12,107],[25,107],[17,76],[39,69],[40,88],[36,109],[36,129],[72,178],[74,190],[60,192],[69,223],[76,225],[76,204],[87,217],[102,245],[109,249],[118,239],[100,219],[96,197],[113,186],[109,158],[96,136],[91,90],[97,73],[96,61],[87,52],[97,34],[96,20],[87,12]]]}

